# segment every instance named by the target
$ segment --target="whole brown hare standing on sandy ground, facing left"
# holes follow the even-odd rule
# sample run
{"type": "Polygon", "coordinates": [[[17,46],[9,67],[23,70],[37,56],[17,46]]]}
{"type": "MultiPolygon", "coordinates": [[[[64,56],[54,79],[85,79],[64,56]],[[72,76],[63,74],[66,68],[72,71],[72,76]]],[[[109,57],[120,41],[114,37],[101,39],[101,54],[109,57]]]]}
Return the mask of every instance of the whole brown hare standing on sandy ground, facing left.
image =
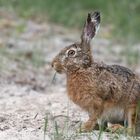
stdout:
{"type": "MultiPolygon", "coordinates": [[[[67,77],[70,100],[88,112],[83,131],[92,131],[98,120],[127,120],[134,130],[140,101],[140,79],[128,68],[94,61],[90,42],[100,24],[100,13],[89,13],[81,42],[60,51],[52,67],[67,77]]],[[[133,131],[134,132],[134,131],[133,131]]]]}

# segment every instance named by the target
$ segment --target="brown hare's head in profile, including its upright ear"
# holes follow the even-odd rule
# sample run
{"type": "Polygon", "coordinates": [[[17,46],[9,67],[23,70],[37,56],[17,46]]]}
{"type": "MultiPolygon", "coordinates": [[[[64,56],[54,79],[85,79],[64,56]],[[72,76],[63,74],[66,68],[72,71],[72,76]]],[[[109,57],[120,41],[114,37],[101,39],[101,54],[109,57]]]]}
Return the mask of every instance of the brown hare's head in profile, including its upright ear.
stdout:
{"type": "Polygon", "coordinates": [[[76,71],[87,68],[92,64],[90,41],[95,36],[100,23],[100,13],[89,13],[85,22],[81,42],[74,43],[63,50],[54,58],[53,68],[59,72],[76,71]]]}

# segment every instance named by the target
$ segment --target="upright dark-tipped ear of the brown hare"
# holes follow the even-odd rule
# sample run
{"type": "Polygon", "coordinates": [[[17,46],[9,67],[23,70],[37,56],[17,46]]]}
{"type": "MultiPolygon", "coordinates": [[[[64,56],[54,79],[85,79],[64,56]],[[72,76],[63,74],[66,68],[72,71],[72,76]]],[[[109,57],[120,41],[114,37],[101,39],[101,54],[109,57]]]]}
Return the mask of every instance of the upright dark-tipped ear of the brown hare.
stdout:
{"type": "Polygon", "coordinates": [[[100,24],[100,13],[89,13],[86,19],[83,32],[81,35],[81,43],[88,44],[98,31],[100,24]]]}

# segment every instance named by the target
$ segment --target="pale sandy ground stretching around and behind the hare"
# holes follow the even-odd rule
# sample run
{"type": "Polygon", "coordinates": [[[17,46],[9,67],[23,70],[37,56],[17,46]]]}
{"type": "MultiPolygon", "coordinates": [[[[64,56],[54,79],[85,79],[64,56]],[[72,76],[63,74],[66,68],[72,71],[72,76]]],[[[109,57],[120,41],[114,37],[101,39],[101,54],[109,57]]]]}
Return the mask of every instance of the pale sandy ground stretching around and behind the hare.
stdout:
{"type": "MultiPolygon", "coordinates": [[[[24,20],[4,10],[0,10],[0,15],[0,49],[6,48],[8,52],[8,55],[0,54],[0,140],[43,140],[46,116],[49,118],[46,140],[51,139],[52,133],[54,135],[55,119],[62,127],[68,117],[68,125],[78,127],[79,122],[87,119],[87,114],[67,98],[65,76],[56,75],[53,80],[54,71],[50,63],[62,47],[79,40],[80,32],[46,22],[24,20]],[[45,61],[39,67],[28,63],[36,50],[43,52],[45,61]],[[19,52],[25,55],[24,60],[20,55],[15,57],[19,52]]],[[[128,66],[126,58],[121,56],[124,47],[100,38],[101,34],[106,34],[105,31],[101,29],[92,42],[95,59],[128,66]]],[[[140,45],[133,47],[140,50],[140,45]]],[[[39,58],[41,54],[37,54],[39,58]]],[[[140,64],[132,66],[132,69],[140,73],[140,64]]],[[[73,133],[72,130],[70,132],[73,133]]],[[[105,139],[109,139],[107,135],[105,139]]]]}

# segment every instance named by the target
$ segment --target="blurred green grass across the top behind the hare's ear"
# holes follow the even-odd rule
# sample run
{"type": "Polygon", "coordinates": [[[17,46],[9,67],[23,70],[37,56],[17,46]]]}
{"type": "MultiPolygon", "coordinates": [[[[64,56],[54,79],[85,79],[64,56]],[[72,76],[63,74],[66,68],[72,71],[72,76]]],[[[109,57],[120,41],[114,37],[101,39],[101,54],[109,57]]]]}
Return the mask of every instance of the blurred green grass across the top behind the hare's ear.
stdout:
{"type": "Polygon", "coordinates": [[[140,0],[0,0],[24,18],[39,16],[69,28],[80,28],[89,11],[98,10],[112,40],[137,43],[140,38],[140,0]]]}

